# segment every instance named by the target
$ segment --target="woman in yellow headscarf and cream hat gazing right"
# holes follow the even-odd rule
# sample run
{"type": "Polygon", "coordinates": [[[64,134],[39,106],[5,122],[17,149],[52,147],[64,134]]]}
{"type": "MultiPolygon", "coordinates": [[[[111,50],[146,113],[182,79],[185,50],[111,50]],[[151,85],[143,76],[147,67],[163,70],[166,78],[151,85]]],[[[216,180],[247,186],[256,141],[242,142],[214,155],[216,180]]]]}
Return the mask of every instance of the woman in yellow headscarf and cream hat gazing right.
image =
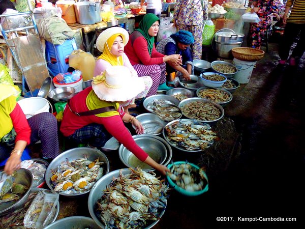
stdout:
{"type": "MultiPolygon", "coordinates": [[[[137,72],[131,65],[127,55],[124,53],[124,46],[129,40],[129,34],[124,28],[121,27],[111,27],[103,31],[97,39],[97,48],[99,51],[103,52],[99,56],[96,66],[94,69],[94,76],[101,75],[110,66],[125,66],[127,67],[133,77],[138,77],[137,72]]],[[[126,101],[121,104],[124,107],[124,111],[128,112],[128,108],[135,107],[135,99],[143,98],[146,96],[153,80],[149,76],[143,77],[145,83],[145,89],[139,93],[135,98],[126,101]]]]}

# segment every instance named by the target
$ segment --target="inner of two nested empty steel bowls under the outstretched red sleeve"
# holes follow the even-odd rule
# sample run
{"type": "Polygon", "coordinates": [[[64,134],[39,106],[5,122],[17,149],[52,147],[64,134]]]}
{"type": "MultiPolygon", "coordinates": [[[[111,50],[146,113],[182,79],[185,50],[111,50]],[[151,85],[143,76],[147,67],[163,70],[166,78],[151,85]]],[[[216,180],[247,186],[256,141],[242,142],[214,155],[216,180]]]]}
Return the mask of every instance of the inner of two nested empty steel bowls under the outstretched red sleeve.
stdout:
{"type": "MultiPolygon", "coordinates": [[[[136,144],[151,158],[153,158],[159,164],[164,164],[167,158],[167,148],[165,147],[164,143],[160,141],[161,137],[150,134],[133,135],[132,137],[136,144]]],[[[123,145],[120,145],[118,148],[118,156],[121,162],[123,162],[127,167],[134,168],[139,166],[144,171],[155,170],[153,167],[137,159],[136,156],[123,145]]]]}

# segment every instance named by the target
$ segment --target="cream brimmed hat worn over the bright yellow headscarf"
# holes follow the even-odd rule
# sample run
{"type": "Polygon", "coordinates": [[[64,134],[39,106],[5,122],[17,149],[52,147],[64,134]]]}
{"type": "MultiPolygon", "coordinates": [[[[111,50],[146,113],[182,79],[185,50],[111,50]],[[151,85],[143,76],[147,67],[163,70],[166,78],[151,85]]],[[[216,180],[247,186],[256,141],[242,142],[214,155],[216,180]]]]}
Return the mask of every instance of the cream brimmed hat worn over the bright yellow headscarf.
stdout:
{"type": "Polygon", "coordinates": [[[97,39],[97,48],[99,51],[104,52],[104,45],[106,41],[114,34],[121,34],[124,40],[124,46],[129,40],[129,34],[127,30],[121,27],[110,27],[107,30],[104,30],[97,39]]]}

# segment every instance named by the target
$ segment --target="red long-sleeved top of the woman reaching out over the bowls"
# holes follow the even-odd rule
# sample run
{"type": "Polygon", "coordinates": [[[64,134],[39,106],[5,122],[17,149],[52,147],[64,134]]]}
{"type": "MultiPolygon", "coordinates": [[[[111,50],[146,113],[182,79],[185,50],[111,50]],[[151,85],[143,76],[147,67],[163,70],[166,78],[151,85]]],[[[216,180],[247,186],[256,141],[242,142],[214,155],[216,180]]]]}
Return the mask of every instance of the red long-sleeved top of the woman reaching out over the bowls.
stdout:
{"type": "MultiPolygon", "coordinates": [[[[86,88],[69,101],[69,105],[73,111],[83,112],[89,110],[86,105],[86,97],[91,90],[92,87],[86,88]]],[[[144,161],[148,155],[136,144],[131,134],[126,129],[122,121],[122,117],[124,115],[125,112],[120,116],[116,115],[106,118],[100,118],[95,115],[78,117],[71,112],[68,106],[66,106],[62,125],[60,125],[60,131],[64,136],[67,137],[86,125],[92,123],[101,124],[112,136],[114,136],[121,144],[123,144],[129,151],[131,151],[139,160],[144,161]]]]}

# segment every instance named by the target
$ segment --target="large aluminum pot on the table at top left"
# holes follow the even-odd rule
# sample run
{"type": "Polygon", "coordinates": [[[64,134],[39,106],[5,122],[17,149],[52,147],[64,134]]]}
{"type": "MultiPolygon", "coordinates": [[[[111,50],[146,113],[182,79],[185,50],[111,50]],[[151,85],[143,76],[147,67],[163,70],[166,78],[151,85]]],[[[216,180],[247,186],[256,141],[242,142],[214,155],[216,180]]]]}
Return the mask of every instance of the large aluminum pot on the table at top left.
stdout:
{"type": "Polygon", "coordinates": [[[80,24],[95,24],[102,21],[100,2],[74,3],[77,22],[80,24]]]}

